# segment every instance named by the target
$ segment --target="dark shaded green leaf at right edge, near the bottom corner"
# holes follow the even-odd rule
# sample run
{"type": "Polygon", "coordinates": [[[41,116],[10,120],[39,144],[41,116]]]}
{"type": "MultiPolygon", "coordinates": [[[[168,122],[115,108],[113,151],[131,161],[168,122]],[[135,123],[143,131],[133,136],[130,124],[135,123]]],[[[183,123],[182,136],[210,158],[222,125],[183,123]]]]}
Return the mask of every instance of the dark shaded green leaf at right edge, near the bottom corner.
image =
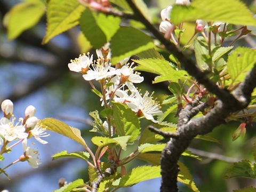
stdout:
{"type": "Polygon", "coordinates": [[[255,163],[252,163],[249,160],[243,160],[241,162],[233,163],[226,170],[223,178],[229,179],[229,178],[236,178],[236,177],[256,179],[255,163]]]}

